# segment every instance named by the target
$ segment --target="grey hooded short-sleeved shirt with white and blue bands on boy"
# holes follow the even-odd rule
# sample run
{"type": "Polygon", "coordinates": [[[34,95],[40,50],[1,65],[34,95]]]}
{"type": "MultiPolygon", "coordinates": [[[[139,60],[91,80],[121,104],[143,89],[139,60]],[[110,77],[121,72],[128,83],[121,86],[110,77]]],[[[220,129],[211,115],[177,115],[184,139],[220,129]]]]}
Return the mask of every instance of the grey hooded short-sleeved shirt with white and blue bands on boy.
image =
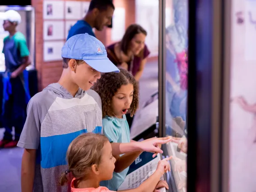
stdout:
{"type": "Polygon", "coordinates": [[[27,119],[19,147],[37,150],[34,192],[67,192],[59,177],[68,169],[66,152],[82,133],[103,133],[101,98],[79,89],[73,97],[59,83],[37,93],[27,106],[27,119]]]}

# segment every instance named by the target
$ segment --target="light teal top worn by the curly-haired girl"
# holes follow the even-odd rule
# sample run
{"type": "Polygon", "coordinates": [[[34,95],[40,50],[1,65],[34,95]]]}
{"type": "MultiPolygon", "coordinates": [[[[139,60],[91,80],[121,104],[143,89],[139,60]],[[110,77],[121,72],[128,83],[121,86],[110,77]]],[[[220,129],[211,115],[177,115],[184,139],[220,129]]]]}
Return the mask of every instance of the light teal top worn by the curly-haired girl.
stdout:
{"type": "MultiPolygon", "coordinates": [[[[110,142],[128,143],[130,142],[130,129],[125,115],[123,119],[116,117],[106,117],[102,119],[103,133],[110,142]]],[[[123,183],[128,173],[129,167],[121,173],[113,173],[113,178],[109,181],[102,181],[101,186],[107,187],[110,191],[117,191],[123,183]]]]}

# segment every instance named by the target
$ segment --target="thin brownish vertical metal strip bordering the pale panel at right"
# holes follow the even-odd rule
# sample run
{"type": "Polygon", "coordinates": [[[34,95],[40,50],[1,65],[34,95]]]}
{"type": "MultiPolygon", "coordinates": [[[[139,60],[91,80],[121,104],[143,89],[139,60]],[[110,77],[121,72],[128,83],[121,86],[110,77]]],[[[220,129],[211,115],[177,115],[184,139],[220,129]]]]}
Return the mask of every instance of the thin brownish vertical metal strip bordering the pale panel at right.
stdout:
{"type": "Polygon", "coordinates": [[[221,153],[221,191],[229,192],[229,137],[230,137],[230,83],[231,83],[231,38],[232,38],[232,0],[223,2],[224,13],[224,66],[223,66],[223,109],[222,109],[222,153],[221,153]]]}

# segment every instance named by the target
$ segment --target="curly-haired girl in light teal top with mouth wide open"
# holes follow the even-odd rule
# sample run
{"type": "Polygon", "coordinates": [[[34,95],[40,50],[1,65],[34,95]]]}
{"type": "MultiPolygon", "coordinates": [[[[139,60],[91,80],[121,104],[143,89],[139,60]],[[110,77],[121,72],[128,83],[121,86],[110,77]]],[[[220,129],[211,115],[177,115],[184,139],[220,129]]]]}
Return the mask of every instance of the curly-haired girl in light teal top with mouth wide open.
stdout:
{"type": "MultiPolygon", "coordinates": [[[[133,142],[125,115],[129,110],[133,116],[139,105],[139,89],[133,75],[125,69],[120,69],[119,73],[105,73],[92,89],[101,96],[104,135],[111,143],[133,142]]],[[[113,178],[101,185],[116,191],[123,183],[129,166],[141,153],[134,151],[114,156],[116,162],[113,178]]]]}

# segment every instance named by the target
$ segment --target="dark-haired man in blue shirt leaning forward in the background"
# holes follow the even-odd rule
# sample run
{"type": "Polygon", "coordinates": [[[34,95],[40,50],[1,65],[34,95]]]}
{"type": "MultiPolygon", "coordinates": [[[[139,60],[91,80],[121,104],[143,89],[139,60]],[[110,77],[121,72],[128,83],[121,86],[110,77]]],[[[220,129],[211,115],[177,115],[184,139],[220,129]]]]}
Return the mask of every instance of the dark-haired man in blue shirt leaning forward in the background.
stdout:
{"type": "Polygon", "coordinates": [[[111,0],[91,0],[86,16],[71,27],[67,40],[82,33],[88,33],[95,37],[92,29],[96,28],[96,30],[102,31],[105,26],[111,24],[113,14],[114,5],[111,0]]]}

